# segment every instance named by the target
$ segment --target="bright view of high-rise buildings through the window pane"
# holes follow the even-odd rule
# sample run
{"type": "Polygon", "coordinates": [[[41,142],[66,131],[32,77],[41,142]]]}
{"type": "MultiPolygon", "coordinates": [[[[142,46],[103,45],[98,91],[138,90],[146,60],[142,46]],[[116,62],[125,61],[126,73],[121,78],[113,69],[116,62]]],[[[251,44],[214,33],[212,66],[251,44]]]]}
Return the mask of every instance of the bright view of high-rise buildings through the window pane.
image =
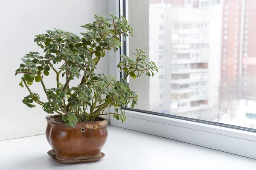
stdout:
{"type": "Polygon", "coordinates": [[[256,127],[256,0],[149,0],[149,25],[159,73],[135,108],[256,127]]]}

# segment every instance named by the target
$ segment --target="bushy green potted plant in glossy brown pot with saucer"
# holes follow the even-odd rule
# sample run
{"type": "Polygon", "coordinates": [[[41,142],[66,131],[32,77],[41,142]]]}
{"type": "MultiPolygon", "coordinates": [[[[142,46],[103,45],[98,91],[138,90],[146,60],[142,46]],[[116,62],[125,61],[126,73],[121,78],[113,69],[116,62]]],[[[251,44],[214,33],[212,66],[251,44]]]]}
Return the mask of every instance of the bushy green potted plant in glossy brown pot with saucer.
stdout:
{"type": "Polygon", "coordinates": [[[109,19],[95,15],[93,23],[81,26],[88,30],[81,33],[82,38],[59,29],[36,35],[34,41],[44,49],[44,56],[29,52],[15,72],[15,75],[23,76],[19,85],[29,91],[23,99],[25,105],[34,108],[37,103],[49,114],[58,113],[46,117],[46,136],[52,147],[48,154],[55,161],[74,163],[101,159],[104,156],[101,149],[108,135],[108,120],[100,116],[112,114],[124,122],[122,106],[131,102],[133,108],[137,104],[137,95],[131,91],[126,78],[135,79],[143,73],[153,76],[153,71],[157,71],[155,63],[146,63],[145,53],[138,49],[134,53],[135,59],[121,55],[122,61],[117,67],[125,72],[124,79],[95,74],[106,51],[113,49],[116,52],[120,48],[119,37],[133,36],[133,29],[124,17],[110,16],[109,19]],[[56,74],[53,88],[44,84],[50,70],[56,74]],[[79,85],[71,87],[70,81],[76,78],[81,78],[79,85]],[[29,86],[37,82],[44,89],[47,101],[42,101],[30,90],[29,86]],[[109,107],[114,108],[113,113],[105,112],[109,107]]]}

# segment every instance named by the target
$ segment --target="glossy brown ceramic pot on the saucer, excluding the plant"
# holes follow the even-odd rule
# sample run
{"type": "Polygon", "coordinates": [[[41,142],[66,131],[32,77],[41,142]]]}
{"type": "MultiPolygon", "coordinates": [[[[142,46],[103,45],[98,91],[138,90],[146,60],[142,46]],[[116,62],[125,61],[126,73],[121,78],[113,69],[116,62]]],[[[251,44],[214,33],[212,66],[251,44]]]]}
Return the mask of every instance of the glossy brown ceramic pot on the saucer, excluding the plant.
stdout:
{"type": "Polygon", "coordinates": [[[56,159],[76,161],[97,159],[101,156],[107,136],[108,120],[99,118],[97,122],[79,122],[76,127],[67,127],[58,122],[59,115],[47,116],[46,137],[56,159]],[[55,121],[57,120],[57,121],[55,121]]]}

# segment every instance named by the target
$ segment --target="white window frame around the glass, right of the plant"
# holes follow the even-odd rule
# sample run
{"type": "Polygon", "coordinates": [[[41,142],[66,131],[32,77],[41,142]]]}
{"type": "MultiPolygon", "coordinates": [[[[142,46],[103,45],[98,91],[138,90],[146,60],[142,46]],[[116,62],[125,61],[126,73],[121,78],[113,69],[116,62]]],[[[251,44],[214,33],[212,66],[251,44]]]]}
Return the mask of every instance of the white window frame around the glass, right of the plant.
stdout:
{"type": "MultiPolygon", "coordinates": [[[[130,2],[137,3],[146,1],[148,0],[130,0],[130,2]]],[[[126,16],[128,0],[108,0],[108,7],[109,14],[126,16]]],[[[140,17],[138,13],[145,12],[143,10],[146,9],[137,10],[137,14],[133,14],[140,17]]],[[[137,30],[137,34],[140,31],[142,32],[143,29],[137,30]]],[[[123,41],[122,37],[121,41],[123,41]]],[[[122,73],[116,68],[120,60],[119,55],[129,54],[128,45],[129,39],[116,53],[108,51],[109,74],[114,75],[117,79],[122,77],[122,73]]],[[[253,150],[256,147],[255,129],[133,108],[123,109],[127,120],[122,124],[121,121],[110,116],[110,125],[256,159],[253,150]]],[[[110,108],[109,111],[113,111],[113,108],[110,108]]]]}

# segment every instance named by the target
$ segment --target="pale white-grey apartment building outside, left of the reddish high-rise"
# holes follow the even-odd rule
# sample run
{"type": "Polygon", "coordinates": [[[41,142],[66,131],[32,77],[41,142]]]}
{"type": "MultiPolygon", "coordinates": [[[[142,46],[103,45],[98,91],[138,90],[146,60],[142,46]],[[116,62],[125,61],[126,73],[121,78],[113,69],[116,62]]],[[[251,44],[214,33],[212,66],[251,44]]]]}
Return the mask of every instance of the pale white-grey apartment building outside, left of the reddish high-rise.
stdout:
{"type": "Polygon", "coordinates": [[[159,66],[150,79],[153,111],[198,118],[218,105],[222,8],[205,2],[150,1],[149,56],[159,66]]]}

